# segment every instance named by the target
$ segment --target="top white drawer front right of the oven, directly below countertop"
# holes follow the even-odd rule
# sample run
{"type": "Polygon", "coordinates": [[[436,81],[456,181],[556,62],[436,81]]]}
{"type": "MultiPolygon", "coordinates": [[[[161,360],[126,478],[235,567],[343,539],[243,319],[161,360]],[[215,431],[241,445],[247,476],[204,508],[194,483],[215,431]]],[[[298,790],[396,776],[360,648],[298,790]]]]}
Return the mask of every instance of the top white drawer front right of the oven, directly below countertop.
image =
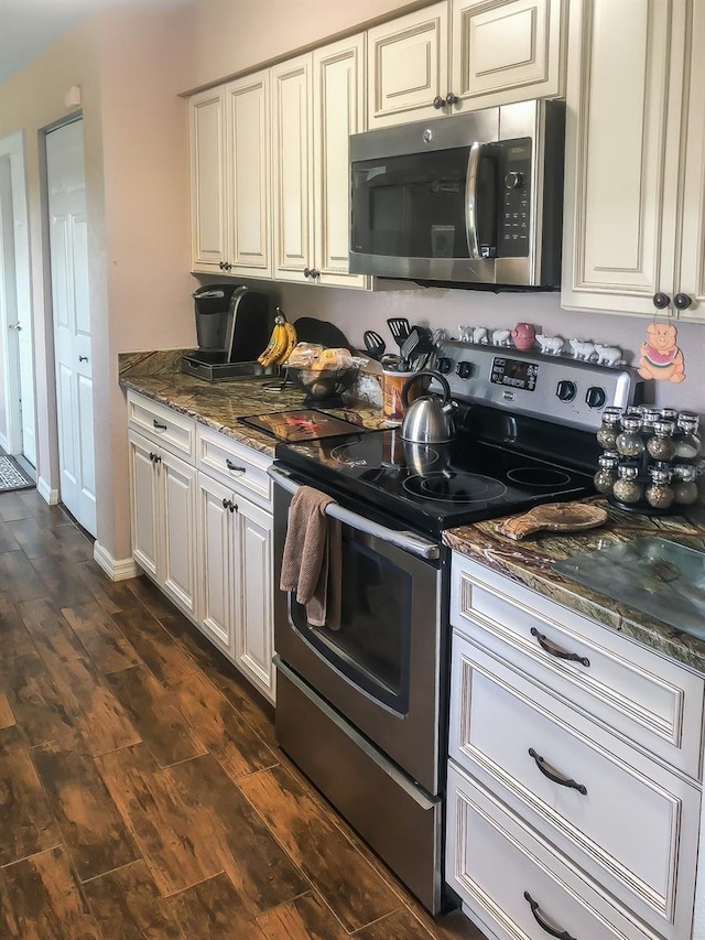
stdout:
{"type": "Polygon", "coordinates": [[[699,780],[703,680],[694,672],[457,553],[451,620],[628,741],[699,780]],[[577,653],[581,661],[550,650],[577,653]]]}

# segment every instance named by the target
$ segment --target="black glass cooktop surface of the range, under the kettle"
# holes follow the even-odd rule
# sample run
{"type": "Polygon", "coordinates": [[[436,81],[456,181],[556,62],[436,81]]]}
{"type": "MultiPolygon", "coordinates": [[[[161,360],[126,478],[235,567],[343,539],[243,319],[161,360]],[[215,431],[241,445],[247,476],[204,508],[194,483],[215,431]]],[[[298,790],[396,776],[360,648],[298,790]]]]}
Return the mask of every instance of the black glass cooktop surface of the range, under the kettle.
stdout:
{"type": "Polygon", "coordinates": [[[590,474],[462,435],[412,444],[398,430],[278,444],[299,483],[371,504],[410,528],[443,529],[594,493],[590,474]]]}

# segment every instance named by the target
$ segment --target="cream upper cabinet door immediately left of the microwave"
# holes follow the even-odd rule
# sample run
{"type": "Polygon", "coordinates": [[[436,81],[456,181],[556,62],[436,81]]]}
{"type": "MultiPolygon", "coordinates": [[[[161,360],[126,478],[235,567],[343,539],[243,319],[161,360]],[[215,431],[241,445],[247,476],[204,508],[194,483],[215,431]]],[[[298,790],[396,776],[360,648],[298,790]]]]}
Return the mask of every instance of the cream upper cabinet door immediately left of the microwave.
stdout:
{"type": "Polygon", "coordinates": [[[364,36],[313,54],[314,258],[322,284],[364,288],[368,281],[348,272],[348,137],[365,127],[364,66],[364,36]]]}

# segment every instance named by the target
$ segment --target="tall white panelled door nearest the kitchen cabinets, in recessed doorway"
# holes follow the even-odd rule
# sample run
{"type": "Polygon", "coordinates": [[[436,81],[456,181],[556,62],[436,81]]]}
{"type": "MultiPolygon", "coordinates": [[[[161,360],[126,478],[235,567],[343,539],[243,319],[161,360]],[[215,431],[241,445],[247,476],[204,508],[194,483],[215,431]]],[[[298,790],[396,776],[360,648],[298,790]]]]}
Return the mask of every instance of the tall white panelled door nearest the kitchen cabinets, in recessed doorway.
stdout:
{"type": "Polygon", "coordinates": [[[96,534],[83,121],[46,134],[61,500],[96,534]]]}

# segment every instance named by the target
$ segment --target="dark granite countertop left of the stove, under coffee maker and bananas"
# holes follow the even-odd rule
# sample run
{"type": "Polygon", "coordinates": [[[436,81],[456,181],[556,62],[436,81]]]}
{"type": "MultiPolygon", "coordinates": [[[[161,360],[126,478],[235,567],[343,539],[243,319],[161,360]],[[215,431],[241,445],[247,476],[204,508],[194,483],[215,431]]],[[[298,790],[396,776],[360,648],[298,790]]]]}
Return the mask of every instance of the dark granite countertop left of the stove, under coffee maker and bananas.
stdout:
{"type": "MultiPolygon", "coordinates": [[[[118,357],[120,386],[181,411],[248,447],[274,456],[274,437],[242,424],[238,419],[303,408],[303,392],[291,385],[281,390],[267,389],[267,383],[281,385],[275,378],[207,382],[184,375],[180,371],[182,352],[121,354],[118,357]]],[[[381,410],[364,403],[326,409],[326,412],[365,428],[383,426],[381,410]]]]}

